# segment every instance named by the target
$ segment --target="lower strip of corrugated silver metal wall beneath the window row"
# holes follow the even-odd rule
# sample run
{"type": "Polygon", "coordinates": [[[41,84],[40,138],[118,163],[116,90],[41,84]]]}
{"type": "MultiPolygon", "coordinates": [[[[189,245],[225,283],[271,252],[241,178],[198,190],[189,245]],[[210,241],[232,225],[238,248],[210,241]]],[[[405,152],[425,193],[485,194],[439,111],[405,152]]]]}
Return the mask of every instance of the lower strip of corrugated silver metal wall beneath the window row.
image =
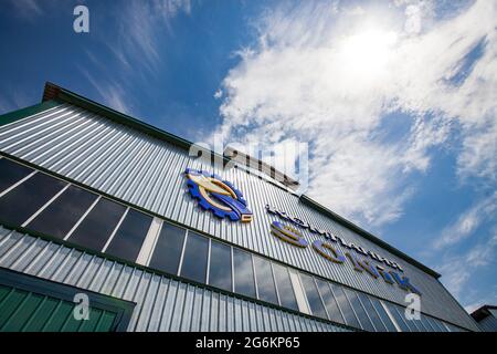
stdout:
{"type": "Polygon", "coordinates": [[[136,302],[128,331],[346,331],[3,227],[0,267],[136,302]]]}

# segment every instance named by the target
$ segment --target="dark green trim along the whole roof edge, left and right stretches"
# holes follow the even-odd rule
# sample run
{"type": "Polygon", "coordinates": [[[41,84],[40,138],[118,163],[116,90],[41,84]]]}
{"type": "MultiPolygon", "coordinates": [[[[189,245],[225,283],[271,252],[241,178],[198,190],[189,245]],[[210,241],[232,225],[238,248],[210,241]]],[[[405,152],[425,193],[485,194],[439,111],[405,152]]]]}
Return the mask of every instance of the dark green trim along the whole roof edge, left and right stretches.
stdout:
{"type": "MultiPolygon", "coordinates": [[[[44,110],[54,107],[61,103],[70,103],[73,105],[76,105],[78,107],[85,108],[89,112],[96,113],[98,115],[105,116],[106,118],[117,122],[119,124],[129,126],[131,128],[135,128],[137,131],[144,132],[148,135],[151,135],[154,137],[157,137],[158,139],[161,140],[166,140],[168,143],[171,143],[178,147],[184,148],[184,149],[190,149],[190,147],[193,145],[193,143],[179,137],[177,135],[173,135],[171,133],[168,133],[166,131],[162,131],[160,128],[157,128],[150,124],[147,124],[145,122],[141,122],[139,119],[136,119],[127,114],[120,113],[118,111],[115,111],[113,108],[106,107],[95,101],[88,100],[86,97],[83,97],[74,92],[71,92],[68,90],[65,90],[56,84],[53,84],[51,82],[46,82],[45,83],[45,88],[43,92],[43,102],[38,104],[38,105],[33,105],[31,107],[27,107],[23,110],[19,110],[15,112],[11,112],[8,114],[4,114],[2,116],[0,116],[0,126],[14,122],[17,119],[21,119],[25,116],[42,112],[44,110]]],[[[210,152],[212,153],[215,157],[222,159],[224,163],[230,162],[229,158],[226,158],[223,155],[220,155],[218,153],[214,152],[210,152]]],[[[427,274],[438,279],[441,277],[441,274],[438,274],[437,272],[435,272],[434,270],[427,268],[426,266],[420,263],[419,261],[416,261],[415,259],[409,257],[408,254],[405,254],[404,252],[398,250],[396,248],[388,244],[387,242],[382,241],[380,238],[373,236],[372,233],[366,231],[364,229],[360,228],[359,226],[352,223],[351,221],[348,221],[347,219],[345,219],[343,217],[339,216],[338,214],[329,210],[328,208],[321,206],[320,204],[316,202],[315,200],[310,199],[309,197],[303,195],[300,196],[299,200],[308,206],[310,206],[311,208],[318,210],[319,212],[325,214],[326,216],[330,217],[331,219],[336,220],[337,222],[343,225],[345,227],[356,231],[357,233],[361,235],[362,237],[364,237],[366,239],[377,243],[378,246],[384,248],[385,250],[390,251],[391,253],[402,258],[403,260],[405,260],[406,262],[413,264],[414,267],[423,270],[424,272],[426,272],[427,274]]]]}

